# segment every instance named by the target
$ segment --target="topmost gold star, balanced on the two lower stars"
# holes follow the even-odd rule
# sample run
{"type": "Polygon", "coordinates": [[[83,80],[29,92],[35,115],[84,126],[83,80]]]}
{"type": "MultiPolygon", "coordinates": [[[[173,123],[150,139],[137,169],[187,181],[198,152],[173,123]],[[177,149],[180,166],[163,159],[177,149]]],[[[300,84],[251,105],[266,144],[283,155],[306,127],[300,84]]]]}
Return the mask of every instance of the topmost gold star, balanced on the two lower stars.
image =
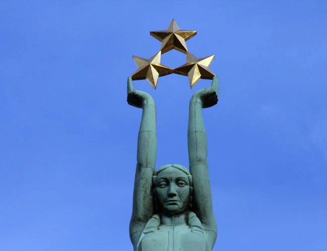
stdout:
{"type": "Polygon", "coordinates": [[[185,41],[193,38],[196,35],[196,31],[181,31],[175,19],[173,19],[166,31],[150,32],[150,35],[162,42],[160,49],[162,54],[173,49],[186,54],[187,47],[185,41]]]}

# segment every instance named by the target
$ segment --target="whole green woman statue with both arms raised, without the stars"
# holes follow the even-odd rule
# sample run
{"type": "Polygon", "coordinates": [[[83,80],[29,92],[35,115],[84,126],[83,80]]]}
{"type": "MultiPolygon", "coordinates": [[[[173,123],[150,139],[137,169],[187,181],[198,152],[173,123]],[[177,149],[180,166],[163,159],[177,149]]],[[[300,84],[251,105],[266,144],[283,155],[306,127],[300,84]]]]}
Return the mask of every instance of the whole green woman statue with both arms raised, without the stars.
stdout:
{"type": "Polygon", "coordinates": [[[218,78],[190,101],[188,149],[190,171],[182,165],[156,162],[156,110],[153,98],[133,88],[127,102],[143,109],[137,142],[130,238],[134,251],[211,251],[217,237],[207,162],[202,108],[218,101],[218,78]]]}

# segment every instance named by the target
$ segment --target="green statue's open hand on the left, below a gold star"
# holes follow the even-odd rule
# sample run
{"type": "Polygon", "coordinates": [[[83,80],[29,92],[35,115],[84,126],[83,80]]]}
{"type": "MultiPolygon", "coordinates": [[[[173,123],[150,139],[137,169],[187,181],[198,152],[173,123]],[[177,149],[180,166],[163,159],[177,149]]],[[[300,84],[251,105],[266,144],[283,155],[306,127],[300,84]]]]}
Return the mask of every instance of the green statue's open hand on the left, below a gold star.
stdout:
{"type": "Polygon", "coordinates": [[[149,103],[154,104],[154,100],[150,94],[134,89],[131,77],[128,77],[127,81],[127,102],[137,108],[142,108],[149,103]]]}

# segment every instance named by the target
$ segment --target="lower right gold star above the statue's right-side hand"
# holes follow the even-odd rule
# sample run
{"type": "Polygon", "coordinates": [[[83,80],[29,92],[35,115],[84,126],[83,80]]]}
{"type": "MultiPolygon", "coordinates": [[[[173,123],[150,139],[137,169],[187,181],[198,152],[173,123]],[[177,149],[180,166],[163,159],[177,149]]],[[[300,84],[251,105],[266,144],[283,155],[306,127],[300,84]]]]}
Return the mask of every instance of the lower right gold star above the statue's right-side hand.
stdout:
{"type": "Polygon", "coordinates": [[[209,69],[215,55],[198,59],[187,52],[186,64],[174,69],[174,73],[189,76],[191,89],[202,79],[213,79],[215,74],[209,69]]]}

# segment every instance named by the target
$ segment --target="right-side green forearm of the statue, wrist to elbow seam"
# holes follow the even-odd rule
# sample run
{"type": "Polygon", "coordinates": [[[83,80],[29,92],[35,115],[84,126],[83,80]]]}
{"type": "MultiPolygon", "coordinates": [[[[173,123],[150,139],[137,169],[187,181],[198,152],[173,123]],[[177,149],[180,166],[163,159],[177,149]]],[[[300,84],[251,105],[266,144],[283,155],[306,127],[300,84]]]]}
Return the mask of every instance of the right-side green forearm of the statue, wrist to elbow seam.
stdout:
{"type": "Polygon", "coordinates": [[[189,165],[207,164],[207,135],[202,116],[200,100],[192,98],[190,101],[189,127],[188,127],[189,165]]]}

